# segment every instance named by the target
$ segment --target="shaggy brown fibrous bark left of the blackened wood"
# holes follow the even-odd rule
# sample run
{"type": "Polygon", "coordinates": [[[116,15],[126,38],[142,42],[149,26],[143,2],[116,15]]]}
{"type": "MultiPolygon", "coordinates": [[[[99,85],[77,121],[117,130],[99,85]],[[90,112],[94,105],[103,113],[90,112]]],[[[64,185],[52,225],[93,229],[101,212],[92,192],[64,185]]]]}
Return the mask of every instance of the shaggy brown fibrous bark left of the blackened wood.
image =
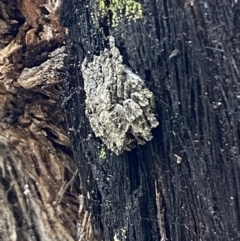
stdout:
{"type": "Polygon", "coordinates": [[[60,93],[60,1],[0,2],[0,240],[72,241],[88,232],[60,93]],[[80,213],[79,213],[80,212],[80,213]],[[79,232],[79,233],[78,233],[79,232]]]}

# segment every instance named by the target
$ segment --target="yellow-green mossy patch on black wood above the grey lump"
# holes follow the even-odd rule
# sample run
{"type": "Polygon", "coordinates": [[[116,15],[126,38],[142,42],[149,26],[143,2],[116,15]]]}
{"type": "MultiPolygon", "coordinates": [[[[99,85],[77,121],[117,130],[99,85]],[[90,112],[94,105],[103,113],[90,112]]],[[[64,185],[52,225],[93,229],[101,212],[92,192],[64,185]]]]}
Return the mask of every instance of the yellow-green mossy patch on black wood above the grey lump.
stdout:
{"type": "Polygon", "coordinates": [[[143,17],[142,4],[135,0],[110,0],[106,4],[105,0],[97,0],[100,16],[106,16],[110,11],[112,14],[112,26],[117,26],[121,18],[137,20],[143,17]]]}

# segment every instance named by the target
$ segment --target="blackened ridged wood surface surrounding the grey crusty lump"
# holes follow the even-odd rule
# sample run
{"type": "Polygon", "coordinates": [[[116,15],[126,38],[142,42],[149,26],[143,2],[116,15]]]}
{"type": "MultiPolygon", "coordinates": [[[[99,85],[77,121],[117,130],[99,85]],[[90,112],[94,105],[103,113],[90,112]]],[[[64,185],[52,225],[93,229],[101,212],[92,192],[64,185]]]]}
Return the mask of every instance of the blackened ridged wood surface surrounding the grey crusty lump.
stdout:
{"type": "Polygon", "coordinates": [[[111,4],[62,8],[72,56],[63,104],[97,239],[240,239],[239,2],[144,0],[132,20],[111,4]],[[153,91],[160,122],[151,142],[119,156],[91,131],[80,71],[108,36],[153,91]]]}

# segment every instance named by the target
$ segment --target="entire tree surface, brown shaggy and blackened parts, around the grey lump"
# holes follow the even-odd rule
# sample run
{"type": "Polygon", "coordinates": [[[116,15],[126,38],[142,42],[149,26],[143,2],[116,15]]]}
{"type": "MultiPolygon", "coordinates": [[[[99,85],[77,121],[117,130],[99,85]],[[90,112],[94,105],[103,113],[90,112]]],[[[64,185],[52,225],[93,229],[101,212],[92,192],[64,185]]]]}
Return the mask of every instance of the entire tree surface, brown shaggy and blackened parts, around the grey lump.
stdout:
{"type": "Polygon", "coordinates": [[[0,240],[238,240],[239,2],[60,3],[0,2],[0,240]],[[120,155],[81,73],[109,36],[160,123],[120,155]]]}

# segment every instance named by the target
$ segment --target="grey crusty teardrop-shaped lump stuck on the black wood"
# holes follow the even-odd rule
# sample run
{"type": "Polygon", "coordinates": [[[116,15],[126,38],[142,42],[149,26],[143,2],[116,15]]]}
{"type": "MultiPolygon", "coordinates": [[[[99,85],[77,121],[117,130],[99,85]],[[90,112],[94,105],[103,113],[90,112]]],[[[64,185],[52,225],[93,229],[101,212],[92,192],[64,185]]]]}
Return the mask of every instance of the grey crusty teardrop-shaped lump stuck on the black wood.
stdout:
{"type": "Polygon", "coordinates": [[[124,66],[110,37],[110,48],[81,65],[86,92],[86,116],[93,132],[117,155],[152,139],[159,123],[153,93],[124,66]]]}

